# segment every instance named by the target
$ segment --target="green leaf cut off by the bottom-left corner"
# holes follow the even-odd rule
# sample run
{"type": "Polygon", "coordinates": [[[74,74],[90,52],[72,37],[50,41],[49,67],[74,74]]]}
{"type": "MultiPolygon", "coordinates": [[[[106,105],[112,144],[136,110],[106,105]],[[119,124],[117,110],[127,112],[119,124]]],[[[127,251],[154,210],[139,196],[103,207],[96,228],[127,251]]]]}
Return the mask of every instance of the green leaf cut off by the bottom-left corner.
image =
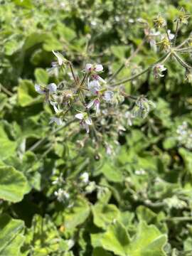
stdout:
{"type": "Polygon", "coordinates": [[[9,215],[0,217],[0,256],[17,256],[24,241],[22,235],[24,223],[22,220],[14,220],[9,215]]]}

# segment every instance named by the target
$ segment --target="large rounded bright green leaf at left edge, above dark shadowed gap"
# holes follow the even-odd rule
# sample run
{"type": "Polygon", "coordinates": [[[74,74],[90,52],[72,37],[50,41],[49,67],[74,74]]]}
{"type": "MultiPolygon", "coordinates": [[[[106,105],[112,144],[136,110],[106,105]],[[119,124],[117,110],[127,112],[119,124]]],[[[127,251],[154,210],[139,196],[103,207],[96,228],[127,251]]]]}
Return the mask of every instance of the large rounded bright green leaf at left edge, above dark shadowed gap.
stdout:
{"type": "Polygon", "coordinates": [[[21,171],[11,166],[0,166],[0,176],[1,199],[16,203],[28,193],[28,182],[21,171]]]}

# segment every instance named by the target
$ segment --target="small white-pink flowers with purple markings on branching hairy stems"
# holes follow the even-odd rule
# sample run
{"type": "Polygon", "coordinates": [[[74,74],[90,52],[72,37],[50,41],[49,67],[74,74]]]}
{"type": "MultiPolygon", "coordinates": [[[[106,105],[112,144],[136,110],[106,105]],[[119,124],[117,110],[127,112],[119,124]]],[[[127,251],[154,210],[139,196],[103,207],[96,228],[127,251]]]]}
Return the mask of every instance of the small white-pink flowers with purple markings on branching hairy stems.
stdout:
{"type": "MultiPolygon", "coordinates": [[[[188,18],[183,11],[179,15],[176,19],[177,25],[185,23],[185,19],[188,18]]],[[[56,61],[52,63],[49,71],[55,75],[59,74],[57,79],[61,77],[61,72],[64,72],[64,80],[58,85],[54,82],[49,85],[35,85],[36,92],[44,95],[45,102],[53,109],[54,114],[50,117],[50,124],[55,123],[65,127],[68,117],[73,117],[71,121],[79,121],[80,128],[90,134],[95,149],[102,145],[107,154],[114,154],[114,148],[119,143],[119,135],[132,126],[135,118],[146,118],[155,107],[154,102],[146,99],[144,95],[137,97],[127,95],[122,85],[126,82],[137,82],[140,75],[151,70],[154,78],[163,78],[164,71],[166,71],[164,63],[169,58],[174,58],[183,66],[186,69],[186,77],[188,80],[191,78],[192,67],[179,55],[180,53],[190,53],[191,47],[183,47],[187,41],[176,46],[179,26],[176,26],[175,34],[171,33],[167,28],[166,20],[161,15],[154,20],[154,23],[155,28],[150,28],[149,23],[144,22],[145,37],[141,46],[144,43],[149,43],[154,50],[157,50],[156,46],[159,46],[159,50],[164,50],[165,54],[144,70],[142,68],[139,70],[133,65],[131,77],[124,80],[117,81],[117,75],[127,66],[128,60],[134,57],[141,46],[138,46],[125,61],[125,64],[122,64],[109,79],[102,78],[104,71],[102,64],[87,63],[78,74],[69,60],[61,53],[53,51],[56,61]],[[120,86],[117,87],[117,85],[120,86]],[[110,141],[111,137],[114,139],[113,143],[110,141]]],[[[79,129],[76,127],[75,131],[78,134],[79,129]]],[[[85,139],[80,140],[80,146],[85,146],[86,138],[89,137],[85,136],[85,139]]],[[[95,157],[100,158],[98,154],[95,157]]]]}

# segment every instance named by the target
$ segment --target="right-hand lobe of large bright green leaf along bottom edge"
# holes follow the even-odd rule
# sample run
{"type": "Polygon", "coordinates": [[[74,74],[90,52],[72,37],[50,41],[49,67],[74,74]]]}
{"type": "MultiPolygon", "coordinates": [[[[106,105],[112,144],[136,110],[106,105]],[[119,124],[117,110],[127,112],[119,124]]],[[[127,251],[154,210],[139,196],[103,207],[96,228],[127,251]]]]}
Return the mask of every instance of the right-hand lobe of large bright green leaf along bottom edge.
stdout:
{"type": "Polygon", "coordinates": [[[166,256],[163,250],[166,235],[162,235],[154,225],[139,223],[138,232],[127,248],[127,255],[132,256],[166,256]]]}

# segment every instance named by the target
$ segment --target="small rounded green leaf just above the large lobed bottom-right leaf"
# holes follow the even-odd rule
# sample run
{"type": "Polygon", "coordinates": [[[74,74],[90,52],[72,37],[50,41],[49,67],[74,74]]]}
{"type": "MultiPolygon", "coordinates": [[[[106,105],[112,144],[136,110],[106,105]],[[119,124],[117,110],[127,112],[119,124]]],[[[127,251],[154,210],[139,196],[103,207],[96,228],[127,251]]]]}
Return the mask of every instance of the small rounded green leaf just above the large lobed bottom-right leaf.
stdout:
{"type": "Polygon", "coordinates": [[[99,228],[107,228],[107,225],[119,218],[119,210],[117,206],[112,204],[97,203],[92,206],[93,223],[99,228]]]}

